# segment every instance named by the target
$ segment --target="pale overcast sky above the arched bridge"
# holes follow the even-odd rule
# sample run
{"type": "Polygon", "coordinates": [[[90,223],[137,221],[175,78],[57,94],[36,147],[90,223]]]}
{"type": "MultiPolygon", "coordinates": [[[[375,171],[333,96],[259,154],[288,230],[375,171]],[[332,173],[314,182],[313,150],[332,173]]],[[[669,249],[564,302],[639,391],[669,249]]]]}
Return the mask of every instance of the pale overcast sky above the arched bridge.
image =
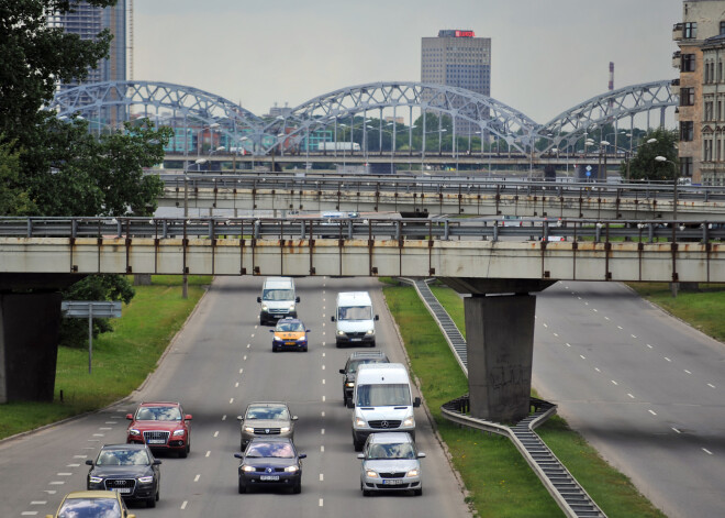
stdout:
{"type": "Polygon", "coordinates": [[[136,0],[136,80],[256,114],[347,86],[420,81],[421,37],[491,37],[491,97],[544,123],[614,88],[671,79],[681,0],[136,0]]]}

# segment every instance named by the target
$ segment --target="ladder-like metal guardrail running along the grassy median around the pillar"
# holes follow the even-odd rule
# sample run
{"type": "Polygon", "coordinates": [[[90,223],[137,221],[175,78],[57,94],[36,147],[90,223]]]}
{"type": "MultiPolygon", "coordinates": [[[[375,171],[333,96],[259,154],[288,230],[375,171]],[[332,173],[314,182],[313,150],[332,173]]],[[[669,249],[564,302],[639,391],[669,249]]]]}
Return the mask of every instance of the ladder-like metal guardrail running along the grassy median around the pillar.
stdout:
{"type": "MultiPolygon", "coordinates": [[[[423,299],[446,337],[454,356],[468,375],[466,341],[450,316],[431,291],[427,279],[408,282],[415,286],[419,296],[423,299]],[[461,352],[464,355],[460,354],[461,352]]],[[[531,404],[534,412],[513,427],[471,417],[469,415],[468,395],[444,404],[440,411],[446,419],[457,425],[507,437],[567,517],[606,518],[604,511],[600,509],[546,443],[534,432],[535,428],[556,414],[556,405],[537,398],[531,398],[531,404]]]]}

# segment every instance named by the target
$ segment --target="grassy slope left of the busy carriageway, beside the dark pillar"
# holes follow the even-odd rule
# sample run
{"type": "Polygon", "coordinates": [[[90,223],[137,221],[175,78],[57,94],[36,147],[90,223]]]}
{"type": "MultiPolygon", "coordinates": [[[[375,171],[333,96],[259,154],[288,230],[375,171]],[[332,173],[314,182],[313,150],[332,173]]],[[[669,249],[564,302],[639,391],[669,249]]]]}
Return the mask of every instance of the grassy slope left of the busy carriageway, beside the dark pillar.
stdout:
{"type": "Polygon", "coordinates": [[[93,340],[92,373],[88,374],[86,348],[59,348],[55,400],[0,405],[0,439],[103,408],[131,394],[156,368],[210,283],[211,277],[190,276],[186,300],[178,276],[154,276],[152,286],[136,286],[123,318],[111,320],[114,332],[93,340]]]}

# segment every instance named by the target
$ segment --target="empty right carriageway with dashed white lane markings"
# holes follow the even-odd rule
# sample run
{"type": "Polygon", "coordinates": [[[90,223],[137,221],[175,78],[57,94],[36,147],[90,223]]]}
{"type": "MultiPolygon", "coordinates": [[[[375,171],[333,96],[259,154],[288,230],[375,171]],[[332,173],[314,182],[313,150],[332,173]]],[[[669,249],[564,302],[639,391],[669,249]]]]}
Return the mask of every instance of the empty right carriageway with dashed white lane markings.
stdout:
{"type": "Polygon", "coordinates": [[[537,298],[534,387],[670,518],[725,509],[725,346],[618,283],[537,298]]]}

